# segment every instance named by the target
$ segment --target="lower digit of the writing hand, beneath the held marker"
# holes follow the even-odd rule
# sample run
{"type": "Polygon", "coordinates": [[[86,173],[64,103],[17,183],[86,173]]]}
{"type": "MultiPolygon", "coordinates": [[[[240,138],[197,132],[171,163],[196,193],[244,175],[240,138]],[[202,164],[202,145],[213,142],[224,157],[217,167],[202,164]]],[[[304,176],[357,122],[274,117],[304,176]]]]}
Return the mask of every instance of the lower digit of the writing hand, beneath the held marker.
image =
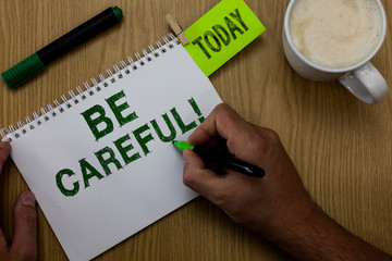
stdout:
{"type": "Polygon", "coordinates": [[[213,192],[219,190],[220,177],[206,169],[205,162],[192,150],[184,150],[184,184],[200,194],[212,199],[213,192]]]}

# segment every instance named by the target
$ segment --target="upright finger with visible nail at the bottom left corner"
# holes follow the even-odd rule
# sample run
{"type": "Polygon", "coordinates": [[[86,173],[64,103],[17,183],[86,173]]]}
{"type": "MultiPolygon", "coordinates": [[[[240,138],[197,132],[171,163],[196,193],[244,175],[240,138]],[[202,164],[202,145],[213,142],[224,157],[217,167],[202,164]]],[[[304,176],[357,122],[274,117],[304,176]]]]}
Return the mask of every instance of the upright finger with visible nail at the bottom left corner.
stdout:
{"type": "Polygon", "coordinates": [[[37,259],[37,210],[35,196],[24,191],[14,207],[14,237],[11,246],[16,260],[37,259]]]}

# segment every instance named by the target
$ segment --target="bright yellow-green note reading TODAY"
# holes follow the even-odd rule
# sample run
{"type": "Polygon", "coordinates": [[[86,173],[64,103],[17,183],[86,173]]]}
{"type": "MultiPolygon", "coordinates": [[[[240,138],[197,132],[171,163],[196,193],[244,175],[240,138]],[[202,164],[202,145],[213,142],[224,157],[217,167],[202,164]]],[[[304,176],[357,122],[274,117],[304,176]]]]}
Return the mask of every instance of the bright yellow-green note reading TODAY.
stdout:
{"type": "Polygon", "coordinates": [[[222,0],[184,32],[185,50],[209,76],[265,30],[243,0],[222,0]]]}

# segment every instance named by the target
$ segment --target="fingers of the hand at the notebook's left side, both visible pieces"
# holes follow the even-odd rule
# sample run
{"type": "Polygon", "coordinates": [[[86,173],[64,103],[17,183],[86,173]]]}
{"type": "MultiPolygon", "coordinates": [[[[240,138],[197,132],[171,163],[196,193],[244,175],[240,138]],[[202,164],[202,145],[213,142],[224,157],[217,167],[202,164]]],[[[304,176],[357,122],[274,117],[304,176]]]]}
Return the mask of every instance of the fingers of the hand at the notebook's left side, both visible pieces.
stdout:
{"type": "MultiPolygon", "coordinates": [[[[10,145],[0,142],[0,172],[10,154],[10,145]]],[[[13,240],[0,227],[0,260],[37,260],[37,211],[34,194],[24,191],[17,198],[13,216],[13,240]]]]}

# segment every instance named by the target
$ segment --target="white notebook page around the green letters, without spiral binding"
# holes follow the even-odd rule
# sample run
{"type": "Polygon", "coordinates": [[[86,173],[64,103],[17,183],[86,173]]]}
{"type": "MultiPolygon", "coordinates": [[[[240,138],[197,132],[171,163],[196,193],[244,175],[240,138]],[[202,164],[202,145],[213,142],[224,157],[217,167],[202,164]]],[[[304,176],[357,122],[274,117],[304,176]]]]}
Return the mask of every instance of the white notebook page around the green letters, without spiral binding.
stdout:
{"type": "MultiPolygon", "coordinates": [[[[173,49],[152,58],[136,71],[131,70],[131,74],[122,71],[123,78],[115,76],[115,83],[108,79],[108,87],[93,96],[87,94],[85,100],[77,97],[79,102],[71,101],[72,108],[65,109],[63,104],[64,112],[54,109],[57,116],[50,116],[49,121],[42,121],[40,126],[27,129],[11,142],[11,157],[70,260],[95,258],[197,196],[182,183],[181,152],[171,142],[160,140],[151,121],[156,120],[162,133],[169,135],[162,117],[167,113],[175,127],[175,139],[186,139],[194,128],[182,134],[171,110],[175,108],[184,125],[192,122],[199,125],[200,115],[188,100],[193,99],[206,117],[221,99],[184,48],[173,45],[173,49]],[[114,105],[126,102],[128,108],[122,110],[121,115],[126,117],[135,112],[137,119],[120,127],[106,99],[121,91],[126,97],[114,105]],[[96,104],[105,109],[114,128],[98,141],[82,114],[96,104]],[[154,138],[146,144],[150,151],[147,156],[133,133],[146,124],[147,129],[139,137],[148,140],[150,134],[154,138]],[[134,147],[127,156],[136,152],[140,156],[127,165],[113,144],[126,134],[131,140],[122,146],[132,144],[134,147]],[[108,164],[110,175],[95,156],[105,147],[114,151],[122,165],[118,170],[114,163],[108,164]],[[93,176],[85,187],[79,161],[88,162],[103,177],[93,176]],[[63,169],[74,173],[63,175],[60,181],[68,190],[74,188],[74,183],[78,184],[74,196],[64,196],[57,184],[56,176],[63,169]]],[[[106,127],[105,124],[98,126],[106,127]]],[[[91,169],[85,163],[84,169],[91,175],[91,169]]]]}

